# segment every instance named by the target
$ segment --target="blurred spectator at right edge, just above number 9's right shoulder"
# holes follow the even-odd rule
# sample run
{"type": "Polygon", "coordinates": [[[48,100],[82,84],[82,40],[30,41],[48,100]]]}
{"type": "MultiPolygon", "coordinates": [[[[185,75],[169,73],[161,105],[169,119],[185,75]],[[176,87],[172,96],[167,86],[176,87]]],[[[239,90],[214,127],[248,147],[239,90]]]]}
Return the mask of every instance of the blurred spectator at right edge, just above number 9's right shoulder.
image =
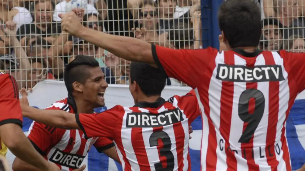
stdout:
{"type": "Polygon", "coordinates": [[[285,49],[291,52],[304,53],[305,52],[305,40],[300,35],[292,35],[289,39],[283,41],[280,49],[285,49]]]}

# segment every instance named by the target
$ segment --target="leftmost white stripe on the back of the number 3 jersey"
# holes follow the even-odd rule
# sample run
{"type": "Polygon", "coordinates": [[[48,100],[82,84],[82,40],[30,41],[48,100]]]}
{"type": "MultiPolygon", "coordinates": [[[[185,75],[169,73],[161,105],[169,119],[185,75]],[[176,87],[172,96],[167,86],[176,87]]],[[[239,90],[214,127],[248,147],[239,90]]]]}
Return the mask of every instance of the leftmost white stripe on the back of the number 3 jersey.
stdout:
{"type": "Polygon", "coordinates": [[[131,113],[132,110],[130,110],[129,108],[126,108],[126,107],[124,107],[124,110],[125,110],[125,113],[124,113],[123,122],[122,122],[122,129],[121,129],[122,144],[123,144],[123,148],[126,153],[126,158],[129,160],[131,170],[138,171],[138,170],[140,170],[140,166],[138,164],[138,160],[136,158],[136,154],[135,154],[135,151],[134,151],[134,149],[132,147],[132,143],[131,143],[131,138],[135,138],[135,137],[131,137],[132,128],[126,127],[127,113],[131,113]]]}

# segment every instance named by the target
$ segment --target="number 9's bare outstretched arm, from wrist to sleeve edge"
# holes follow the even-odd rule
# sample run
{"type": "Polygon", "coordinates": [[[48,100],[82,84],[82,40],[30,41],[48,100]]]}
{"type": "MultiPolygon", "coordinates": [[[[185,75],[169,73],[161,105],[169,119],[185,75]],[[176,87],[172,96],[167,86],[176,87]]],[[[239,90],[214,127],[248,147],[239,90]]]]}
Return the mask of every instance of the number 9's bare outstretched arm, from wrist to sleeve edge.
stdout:
{"type": "Polygon", "coordinates": [[[82,29],[79,38],[106,49],[125,60],[145,62],[157,68],[150,43],[132,37],[111,35],[90,28],[83,27],[82,29]]]}

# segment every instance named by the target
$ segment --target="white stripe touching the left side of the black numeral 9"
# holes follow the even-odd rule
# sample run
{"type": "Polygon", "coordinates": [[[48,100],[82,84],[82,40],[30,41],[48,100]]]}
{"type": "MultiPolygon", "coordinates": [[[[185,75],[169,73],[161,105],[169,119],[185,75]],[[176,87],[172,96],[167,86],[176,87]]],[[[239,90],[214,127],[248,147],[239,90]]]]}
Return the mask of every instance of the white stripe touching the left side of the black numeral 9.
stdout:
{"type": "MultiPolygon", "coordinates": [[[[238,55],[234,55],[234,64],[245,66],[247,64],[246,60],[239,57],[238,55]]],[[[239,143],[239,139],[242,135],[244,122],[238,116],[238,103],[241,93],[247,89],[247,85],[244,82],[234,82],[234,96],[233,96],[233,106],[232,106],[232,116],[231,116],[231,124],[230,124],[230,144],[231,149],[236,150],[235,158],[237,162],[237,170],[238,171],[247,171],[248,165],[247,160],[242,158],[241,151],[241,143],[239,143]]]]}

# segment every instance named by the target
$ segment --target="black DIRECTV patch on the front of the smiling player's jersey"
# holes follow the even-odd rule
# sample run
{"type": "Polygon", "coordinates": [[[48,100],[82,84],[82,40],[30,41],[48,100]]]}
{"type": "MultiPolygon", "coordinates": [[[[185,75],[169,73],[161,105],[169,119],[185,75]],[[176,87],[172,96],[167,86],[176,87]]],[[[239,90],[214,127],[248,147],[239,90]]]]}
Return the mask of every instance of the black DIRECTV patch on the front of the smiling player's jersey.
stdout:
{"type": "Polygon", "coordinates": [[[66,153],[57,148],[49,160],[61,166],[66,166],[68,168],[76,169],[80,167],[84,158],[85,156],[66,153]]]}

